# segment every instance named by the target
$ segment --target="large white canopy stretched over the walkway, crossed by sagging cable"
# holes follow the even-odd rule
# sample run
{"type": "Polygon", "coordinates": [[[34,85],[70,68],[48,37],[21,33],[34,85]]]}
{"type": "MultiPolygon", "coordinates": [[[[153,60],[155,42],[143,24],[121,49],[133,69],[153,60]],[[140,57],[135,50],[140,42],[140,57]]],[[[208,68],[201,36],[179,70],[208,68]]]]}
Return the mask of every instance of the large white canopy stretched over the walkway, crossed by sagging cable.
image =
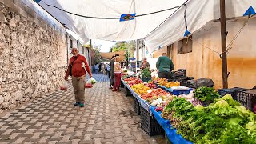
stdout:
{"type": "Polygon", "coordinates": [[[77,33],[85,42],[88,39],[126,41],[144,38],[174,12],[167,10],[119,22],[119,19],[82,18],[62,10],[85,16],[120,18],[121,14],[148,14],[181,6],[186,0],[42,0],[39,5],[77,33]],[[54,7],[57,6],[62,10],[54,7]]]}

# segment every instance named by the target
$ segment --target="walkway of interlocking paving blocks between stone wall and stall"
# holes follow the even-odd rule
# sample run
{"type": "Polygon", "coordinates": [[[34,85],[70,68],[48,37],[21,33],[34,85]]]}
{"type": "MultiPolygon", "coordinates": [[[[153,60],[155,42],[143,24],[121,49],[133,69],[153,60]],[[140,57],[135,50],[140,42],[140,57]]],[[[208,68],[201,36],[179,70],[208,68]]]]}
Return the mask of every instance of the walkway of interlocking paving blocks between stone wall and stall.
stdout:
{"type": "Polygon", "coordinates": [[[37,98],[0,118],[0,143],[165,143],[140,128],[132,98],[108,89],[106,75],[73,106],[72,87],[37,98]]]}

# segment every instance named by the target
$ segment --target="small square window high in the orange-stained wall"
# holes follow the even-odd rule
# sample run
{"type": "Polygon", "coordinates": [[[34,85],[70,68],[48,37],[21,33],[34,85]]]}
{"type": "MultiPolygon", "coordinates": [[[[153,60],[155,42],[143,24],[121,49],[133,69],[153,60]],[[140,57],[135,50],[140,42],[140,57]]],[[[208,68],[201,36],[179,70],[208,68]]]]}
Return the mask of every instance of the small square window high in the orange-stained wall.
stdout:
{"type": "Polygon", "coordinates": [[[178,41],[178,54],[186,54],[192,52],[192,36],[178,41]]]}

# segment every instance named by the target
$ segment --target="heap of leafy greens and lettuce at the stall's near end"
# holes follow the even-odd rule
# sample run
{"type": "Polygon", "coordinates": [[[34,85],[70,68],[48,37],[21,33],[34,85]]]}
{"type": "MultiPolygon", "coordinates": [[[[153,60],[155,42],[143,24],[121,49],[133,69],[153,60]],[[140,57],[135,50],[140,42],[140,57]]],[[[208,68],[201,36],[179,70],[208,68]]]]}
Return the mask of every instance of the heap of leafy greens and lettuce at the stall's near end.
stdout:
{"type": "Polygon", "coordinates": [[[174,98],[161,115],[194,143],[256,143],[256,114],[234,102],[230,94],[206,107],[174,98]]]}

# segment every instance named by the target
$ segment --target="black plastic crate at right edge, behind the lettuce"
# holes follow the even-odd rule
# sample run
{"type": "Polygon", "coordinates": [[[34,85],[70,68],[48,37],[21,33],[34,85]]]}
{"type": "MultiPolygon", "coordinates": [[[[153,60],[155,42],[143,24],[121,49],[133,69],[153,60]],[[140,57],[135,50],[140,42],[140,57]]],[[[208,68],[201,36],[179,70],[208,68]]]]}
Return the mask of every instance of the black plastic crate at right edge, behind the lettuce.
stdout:
{"type": "Polygon", "coordinates": [[[238,92],[238,102],[247,109],[254,111],[256,105],[256,89],[238,92]]]}

